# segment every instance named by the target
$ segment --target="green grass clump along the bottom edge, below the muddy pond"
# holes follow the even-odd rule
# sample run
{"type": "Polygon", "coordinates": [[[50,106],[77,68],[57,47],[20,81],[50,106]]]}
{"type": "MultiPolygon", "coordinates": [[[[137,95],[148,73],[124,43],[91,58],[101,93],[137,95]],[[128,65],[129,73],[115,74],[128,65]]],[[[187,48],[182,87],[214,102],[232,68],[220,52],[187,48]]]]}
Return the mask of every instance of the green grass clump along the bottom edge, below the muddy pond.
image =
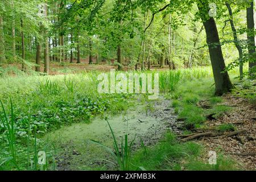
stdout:
{"type": "Polygon", "coordinates": [[[217,154],[217,164],[210,165],[203,159],[203,146],[195,142],[179,143],[176,136],[167,133],[155,146],[142,148],[131,159],[133,169],[143,166],[146,170],[237,170],[234,160],[217,154]]]}

